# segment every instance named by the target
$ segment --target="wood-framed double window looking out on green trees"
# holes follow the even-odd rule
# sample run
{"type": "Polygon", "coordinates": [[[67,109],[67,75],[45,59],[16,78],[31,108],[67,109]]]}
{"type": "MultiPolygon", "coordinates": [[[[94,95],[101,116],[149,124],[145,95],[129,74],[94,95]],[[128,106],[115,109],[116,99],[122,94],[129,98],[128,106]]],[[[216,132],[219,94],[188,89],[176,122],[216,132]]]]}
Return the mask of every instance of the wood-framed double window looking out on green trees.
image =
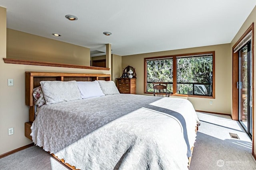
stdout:
{"type": "Polygon", "coordinates": [[[168,93],[214,98],[214,52],[145,59],[145,93],[167,82],[168,93]]]}

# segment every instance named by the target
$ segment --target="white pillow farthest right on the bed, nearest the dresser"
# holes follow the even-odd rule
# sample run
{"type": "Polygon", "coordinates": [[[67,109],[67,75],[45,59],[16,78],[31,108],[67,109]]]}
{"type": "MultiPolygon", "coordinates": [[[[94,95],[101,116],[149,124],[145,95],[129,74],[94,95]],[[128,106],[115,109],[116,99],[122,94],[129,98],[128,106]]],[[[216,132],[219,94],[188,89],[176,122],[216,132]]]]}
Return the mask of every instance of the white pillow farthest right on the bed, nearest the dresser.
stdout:
{"type": "Polygon", "coordinates": [[[100,84],[100,88],[102,90],[102,92],[105,95],[111,95],[111,94],[120,94],[115,82],[113,81],[105,81],[105,80],[98,80],[99,84],[100,84]]]}

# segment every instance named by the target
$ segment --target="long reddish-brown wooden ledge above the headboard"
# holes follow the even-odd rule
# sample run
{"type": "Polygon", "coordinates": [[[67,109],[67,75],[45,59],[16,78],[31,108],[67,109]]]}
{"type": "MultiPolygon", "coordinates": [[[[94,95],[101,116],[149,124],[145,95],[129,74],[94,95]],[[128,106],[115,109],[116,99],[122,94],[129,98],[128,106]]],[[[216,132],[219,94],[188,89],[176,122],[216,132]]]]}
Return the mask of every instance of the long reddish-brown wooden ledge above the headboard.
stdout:
{"type": "Polygon", "coordinates": [[[82,68],[82,69],[92,69],[92,70],[110,70],[110,68],[104,68],[104,67],[58,64],[58,63],[48,63],[48,62],[41,62],[41,61],[28,61],[28,60],[7,59],[7,58],[4,58],[3,60],[4,60],[4,63],[8,63],[8,64],[26,64],[26,65],[36,65],[36,66],[68,67],[68,68],[82,68]]]}

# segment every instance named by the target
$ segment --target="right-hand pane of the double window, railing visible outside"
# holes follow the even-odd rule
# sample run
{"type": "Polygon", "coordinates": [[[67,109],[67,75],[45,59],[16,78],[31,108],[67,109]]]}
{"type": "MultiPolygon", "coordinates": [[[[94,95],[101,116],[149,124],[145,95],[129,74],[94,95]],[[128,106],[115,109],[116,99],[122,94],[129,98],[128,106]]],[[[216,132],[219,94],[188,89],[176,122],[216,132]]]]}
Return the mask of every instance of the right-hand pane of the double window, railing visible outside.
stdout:
{"type": "Polygon", "coordinates": [[[212,96],[212,54],[177,60],[177,94],[212,96]]]}

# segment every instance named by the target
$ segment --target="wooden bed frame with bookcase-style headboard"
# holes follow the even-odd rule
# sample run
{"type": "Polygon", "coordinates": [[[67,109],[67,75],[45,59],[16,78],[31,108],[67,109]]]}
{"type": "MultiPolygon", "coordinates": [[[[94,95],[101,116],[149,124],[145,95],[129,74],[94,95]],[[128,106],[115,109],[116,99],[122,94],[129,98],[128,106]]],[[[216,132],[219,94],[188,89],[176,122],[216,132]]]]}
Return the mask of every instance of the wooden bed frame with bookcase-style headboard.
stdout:
{"type": "MultiPolygon", "coordinates": [[[[106,80],[110,81],[110,74],[84,74],[84,73],[58,73],[58,72],[25,72],[25,96],[26,96],[26,105],[29,107],[29,121],[25,123],[25,136],[32,141],[31,126],[35,119],[35,105],[34,105],[34,97],[33,97],[33,89],[40,86],[40,81],[94,81],[94,80],[106,80]]],[[[196,132],[198,130],[198,126],[196,127],[196,132]]],[[[194,147],[191,148],[193,152],[194,147]]],[[[65,163],[63,159],[59,159],[54,154],[51,154],[54,158],[68,166],[68,168],[72,170],[76,170],[74,166],[71,166],[68,163],[65,163]]],[[[189,164],[191,161],[191,157],[188,158],[189,164]]]]}

